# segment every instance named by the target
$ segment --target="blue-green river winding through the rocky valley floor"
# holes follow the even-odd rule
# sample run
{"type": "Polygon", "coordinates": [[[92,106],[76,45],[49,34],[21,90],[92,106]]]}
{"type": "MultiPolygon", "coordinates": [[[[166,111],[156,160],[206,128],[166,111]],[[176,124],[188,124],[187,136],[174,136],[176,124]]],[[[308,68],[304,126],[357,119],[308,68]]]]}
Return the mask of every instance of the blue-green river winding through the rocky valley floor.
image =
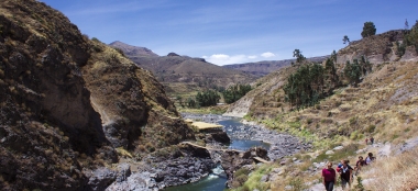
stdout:
{"type": "MultiPolygon", "coordinates": [[[[242,131],[243,128],[249,127],[249,125],[242,124],[240,122],[240,119],[223,120],[219,121],[218,123],[223,125],[224,131],[231,137],[231,144],[229,145],[229,148],[231,149],[246,150],[254,146],[262,146],[266,149],[270,148],[270,145],[267,143],[252,139],[242,139],[233,136],[233,133],[235,131],[242,131]]],[[[197,182],[169,187],[164,189],[164,191],[222,191],[227,189],[227,175],[223,172],[222,167],[219,165],[217,168],[212,169],[212,173],[200,179],[197,182]]]]}

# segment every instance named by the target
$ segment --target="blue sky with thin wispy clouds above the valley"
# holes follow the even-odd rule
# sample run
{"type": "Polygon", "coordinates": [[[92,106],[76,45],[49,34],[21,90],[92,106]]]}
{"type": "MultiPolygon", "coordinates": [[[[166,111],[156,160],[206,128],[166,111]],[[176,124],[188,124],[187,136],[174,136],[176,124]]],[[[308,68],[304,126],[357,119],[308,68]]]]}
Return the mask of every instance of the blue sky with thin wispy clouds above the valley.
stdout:
{"type": "Polygon", "coordinates": [[[121,41],[164,56],[170,52],[224,65],[280,60],[298,48],[323,56],[361,38],[363,23],[377,33],[418,20],[416,0],[41,0],[62,11],[81,33],[121,41]]]}

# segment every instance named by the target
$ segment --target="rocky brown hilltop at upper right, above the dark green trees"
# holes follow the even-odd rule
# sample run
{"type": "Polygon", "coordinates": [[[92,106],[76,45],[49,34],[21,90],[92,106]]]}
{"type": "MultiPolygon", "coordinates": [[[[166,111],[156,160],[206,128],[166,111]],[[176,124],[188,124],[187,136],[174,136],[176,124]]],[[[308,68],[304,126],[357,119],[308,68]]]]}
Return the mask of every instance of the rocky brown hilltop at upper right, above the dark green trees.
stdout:
{"type": "Polygon", "coordinates": [[[417,60],[417,53],[413,47],[407,47],[405,55],[400,57],[397,55],[396,43],[402,44],[405,34],[404,30],[395,30],[351,42],[349,46],[338,52],[337,63],[345,64],[346,60],[360,59],[362,56],[375,64],[417,60]]]}

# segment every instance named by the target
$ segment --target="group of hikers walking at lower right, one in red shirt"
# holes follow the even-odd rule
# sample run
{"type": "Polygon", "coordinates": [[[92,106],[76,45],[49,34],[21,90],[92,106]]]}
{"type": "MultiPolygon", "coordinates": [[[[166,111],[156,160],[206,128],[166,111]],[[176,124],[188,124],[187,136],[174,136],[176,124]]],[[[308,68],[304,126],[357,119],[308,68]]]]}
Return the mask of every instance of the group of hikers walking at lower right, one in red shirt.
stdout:
{"type": "Polygon", "coordinates": [[[369,153],[366,159],[363,159],[362,156],[359,156],[359,160],[356,161],[354,168],[349,165],[349,160],[341,160],[341,162],[337,166],[337,169],[332,168],[331,161],[328,162],[327,167],[322,169],[322,183],[326,187],[326,190],[333,190],[333,187],[337,182],[337,173],[340,175],[342,190],[345,190],[345,188],[350,190],[354,175],[356,176],[362,167],[371,165],[375,159],[376,158],[372,153],[369,153]]]}

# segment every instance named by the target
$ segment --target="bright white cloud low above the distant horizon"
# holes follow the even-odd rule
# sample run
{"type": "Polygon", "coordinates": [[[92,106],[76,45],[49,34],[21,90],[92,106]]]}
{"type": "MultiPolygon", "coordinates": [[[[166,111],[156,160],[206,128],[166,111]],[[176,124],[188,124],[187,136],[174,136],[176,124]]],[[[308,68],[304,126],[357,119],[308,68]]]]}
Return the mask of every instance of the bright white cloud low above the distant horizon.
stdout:
{"type": "Polygon", "coordinates": [[[252,59],[257,58],[254,55],[226,55],[226,54],[215,54],[211,56],[202,56],[207,61],[216,65],[230,65],[230,64],[242,64],[253,61],[252,59]]]}

